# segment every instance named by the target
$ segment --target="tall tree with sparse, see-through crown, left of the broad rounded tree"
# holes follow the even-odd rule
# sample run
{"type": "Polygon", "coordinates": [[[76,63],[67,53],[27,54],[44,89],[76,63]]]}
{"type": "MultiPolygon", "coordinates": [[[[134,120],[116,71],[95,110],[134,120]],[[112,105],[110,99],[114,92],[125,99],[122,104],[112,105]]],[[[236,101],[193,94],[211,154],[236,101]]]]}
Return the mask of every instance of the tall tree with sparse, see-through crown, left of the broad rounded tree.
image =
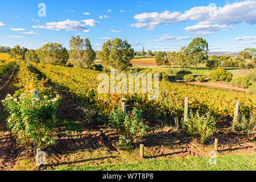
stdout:
{"type": "Polygon", "coordinates": [[[90,68],[96,59],[96,53],[90,45],[89,39],[72,36],[69,40],[69,58],[77,68],[90,68]]]}

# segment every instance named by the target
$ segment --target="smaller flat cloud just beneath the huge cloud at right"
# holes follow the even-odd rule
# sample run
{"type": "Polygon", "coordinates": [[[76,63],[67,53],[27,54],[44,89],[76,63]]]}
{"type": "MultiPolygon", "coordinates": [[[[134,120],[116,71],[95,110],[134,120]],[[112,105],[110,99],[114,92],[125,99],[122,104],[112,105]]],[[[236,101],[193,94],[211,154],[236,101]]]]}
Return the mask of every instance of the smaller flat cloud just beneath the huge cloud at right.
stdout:
{"type": "Polygon", "coordinates": [[[228,26],[226,24],[204,24],[204,23],[198,23],[190,27],[185,27],[184,30],[187,32],[193,32],[194,34],[199,35],[209,35],[214,34],[216,31],[226,31],[231,26],[228,26]]]}

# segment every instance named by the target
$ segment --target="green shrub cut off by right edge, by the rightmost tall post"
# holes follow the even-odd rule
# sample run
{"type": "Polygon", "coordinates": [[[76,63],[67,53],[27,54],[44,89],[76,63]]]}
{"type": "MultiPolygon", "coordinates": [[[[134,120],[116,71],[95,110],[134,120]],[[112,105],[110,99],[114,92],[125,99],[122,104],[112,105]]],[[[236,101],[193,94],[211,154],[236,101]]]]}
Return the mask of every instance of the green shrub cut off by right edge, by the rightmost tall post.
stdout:
{"type": "Polygon", "coordinates": [[[251,137],[255,134],[256,127],[256,111],[251,111],[250,116],[239,114],[237,122],[232,123],[232,129],[235,133],[251,137]]]}

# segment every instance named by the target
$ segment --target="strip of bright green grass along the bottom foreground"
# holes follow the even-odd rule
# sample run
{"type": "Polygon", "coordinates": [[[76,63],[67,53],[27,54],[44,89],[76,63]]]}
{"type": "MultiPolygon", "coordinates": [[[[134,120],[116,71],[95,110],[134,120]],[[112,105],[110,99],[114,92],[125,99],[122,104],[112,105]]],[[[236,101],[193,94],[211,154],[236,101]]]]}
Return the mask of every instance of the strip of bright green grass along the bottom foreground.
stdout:
{"type": "Polygon", "coordinates": [[[210,165],[209,158],[144,160],[132,164],[106,164],[59,168],[60,171],[255,171],[256,152],[251,155],[217,156],[217,164],[210,165]]]}

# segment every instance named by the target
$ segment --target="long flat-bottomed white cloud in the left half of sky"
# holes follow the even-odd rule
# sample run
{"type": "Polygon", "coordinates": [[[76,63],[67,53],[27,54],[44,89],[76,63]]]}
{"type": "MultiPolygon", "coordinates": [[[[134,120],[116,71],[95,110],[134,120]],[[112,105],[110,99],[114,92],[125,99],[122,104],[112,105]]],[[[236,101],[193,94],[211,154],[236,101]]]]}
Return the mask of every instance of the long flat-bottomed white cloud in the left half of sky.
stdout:
{"type": "Polygon", "coordinates": [[[65,30],[65,31],[83,31],[89,32],[89,29],[86,28],[86,24],[81,24],[75,20],[64,20],[63,22],[51,22],[46,23],[46,25],[42,26],[32,26],[32,28],[41,28],[47,30],[65,30]]]}

